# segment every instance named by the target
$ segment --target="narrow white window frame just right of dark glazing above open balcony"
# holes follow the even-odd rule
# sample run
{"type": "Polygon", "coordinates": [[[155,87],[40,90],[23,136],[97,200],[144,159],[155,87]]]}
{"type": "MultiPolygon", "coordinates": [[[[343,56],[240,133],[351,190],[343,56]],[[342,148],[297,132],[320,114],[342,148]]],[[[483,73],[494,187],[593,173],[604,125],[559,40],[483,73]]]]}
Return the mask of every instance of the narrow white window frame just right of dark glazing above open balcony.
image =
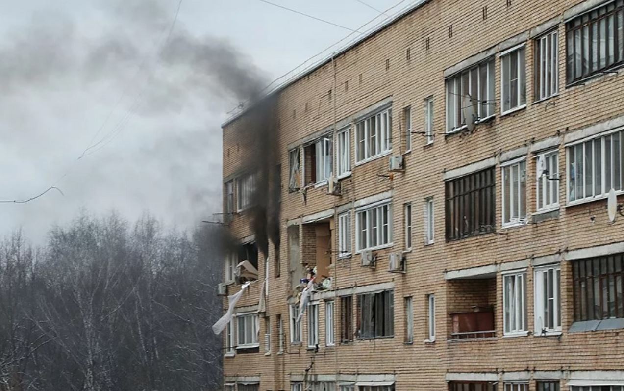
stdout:
{"type": "Polygon", "coordinates": [[[525,157],[520,157],[519,159],[515,159],[513,161],[505,162],[500,165],[501,169],[501,213],[502,213],[502,226],[510,227],[519,224],[527,223],[527,159],[525,157]],[[517,176],[514,178],[514,167],[517,168],[517,176]],[[524,171],[524,176],[522,172],[524,171]],[[510,177],[509,186],[507,189],[505,186],[505,179],[507,176],[510,177]],[[515,185],[514,185],[514,181],[515,185]],[[522,191],[522,182],[524,181],[524,192],[522,191]],[[514,187],[515,186],[515,187],[514,187]],[[509,210],[507,210],[507,203],[505,202],[505,198],[509,195],[509,210]],[[517,199],[517,210],[515,210],[517,216],[513,216],[514,210],[514,200],[517,199]],[[524,200],[524,210],[522,208],[524,200]]]}

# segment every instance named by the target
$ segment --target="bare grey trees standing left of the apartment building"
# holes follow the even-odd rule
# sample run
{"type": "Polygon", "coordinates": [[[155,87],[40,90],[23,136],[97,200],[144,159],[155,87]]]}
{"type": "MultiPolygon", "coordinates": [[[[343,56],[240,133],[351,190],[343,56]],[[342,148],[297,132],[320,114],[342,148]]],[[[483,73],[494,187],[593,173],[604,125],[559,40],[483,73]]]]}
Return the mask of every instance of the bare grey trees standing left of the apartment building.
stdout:
{"type": "Polygon", "coordinates": [[[218,227],[82,213],[0,242],[0,391],[217,390],[218,227]]]}

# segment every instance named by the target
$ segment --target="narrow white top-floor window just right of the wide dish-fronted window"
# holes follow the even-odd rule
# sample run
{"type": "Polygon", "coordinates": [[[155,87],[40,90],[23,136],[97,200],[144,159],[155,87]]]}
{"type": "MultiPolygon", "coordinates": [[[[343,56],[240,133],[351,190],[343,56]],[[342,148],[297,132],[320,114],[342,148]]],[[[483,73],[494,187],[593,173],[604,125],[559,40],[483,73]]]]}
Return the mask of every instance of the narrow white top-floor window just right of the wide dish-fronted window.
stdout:
{"type": "Polygon", "coordinates": [[[500,104],[503,113],[527,104],[524,46],[500,56],[500,104]]]}

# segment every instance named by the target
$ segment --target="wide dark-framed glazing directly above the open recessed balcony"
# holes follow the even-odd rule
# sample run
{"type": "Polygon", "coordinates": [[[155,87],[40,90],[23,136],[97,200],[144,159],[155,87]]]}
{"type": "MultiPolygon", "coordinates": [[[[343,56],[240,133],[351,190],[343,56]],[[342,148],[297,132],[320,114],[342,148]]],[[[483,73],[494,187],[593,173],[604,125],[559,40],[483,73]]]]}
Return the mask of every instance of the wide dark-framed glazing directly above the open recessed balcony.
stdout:
{"type": "Polygon", "coordinates": [[[446,240],[494,231],[494,167],[446,182],[446,240]]]}

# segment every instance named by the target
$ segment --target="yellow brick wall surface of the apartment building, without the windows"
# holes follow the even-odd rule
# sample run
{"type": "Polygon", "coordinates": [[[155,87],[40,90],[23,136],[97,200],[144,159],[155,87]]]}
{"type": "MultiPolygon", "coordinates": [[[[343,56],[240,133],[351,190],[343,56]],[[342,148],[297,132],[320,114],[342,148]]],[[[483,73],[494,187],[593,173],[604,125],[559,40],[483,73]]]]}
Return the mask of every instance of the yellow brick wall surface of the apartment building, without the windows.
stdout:
{"type": "MultiPolygon", "coordinates": [[[[578,0],[482,0],[426,1],[422,6],[373,34],[360,44],[336,56],[289,84],[278,92],[280,118],[278,145],[281,157],[281,247],[280,277],[275,274],[275,247],[270,246],[270,265],[265,270],[259,255],[260,279],[268,273],[270,293],[266,314],[260,316],[260,348],[256,353],[236,354],[223,359],[225,382],[236,379],[260,380],[260,390],[290,390],[291,380],[319,375],[340,379],[340,375],[391,375],[396,390],[447,390],[449,374],[495,374],[504,379],[509,372],[527,373],[529,390],[536,390],[537,372],[557,372],[560,385],[567,387],[573,371],[618,371],[624,369],[624,339],[620,330],[568,332],[573,322],[572,266],[565,258],[570,250],[606,245],[624,240],[624,220],[611,223],[607,217],[606,200],[568,205],[565,183],[567,159],[565,137],[595,124],[603,124],[624,114],[621,72],[602,74],[584,84],[566,86],[566,24],[564,13],[579,4],[578,0]],[[508,4],[509,3],[509,4],[508,4]],[[487,6],[487,19],[484,7],[487,6]],[[535,46],[532,31],[549,21],[558,29],[559,94],[541,102],[534,97],[535,46]],[[449,26],[452,36],[449,37],[449,26]],[[444,71],[512,37],[526,33],[525,69],[527,106],[512,114],[500,114],[500,60],[495,51],[495,117],[480,124],[471,134],[445,135],[446,89],[444,71]],[[427,48],[426,42],[429,47],[427,48]],[[407,58],[409,49],[409,59],[407,58]],[[388,66],[389,65],[389,66],[388,66]],[[334,80],[335,77],[335,80],[334,80]],[[335,86],[335,87],[334,87],[335,86]],[[331,94],[329,93],[331,91],[331,94]],[[412,108],[412,129],[424,129],[424,99],[434,99],[434,142],[426,145],[421,134],[412,135],[411,152],[405,151],[402,110],[412,108]],[[392,156],[404,156],[406,169],[388,178],[388,156],[364,164],[354,157],[355,127],[351,127],[351,176],[341,180],[341,195],[328,195],[327,187],[310,187],[305,191],[288,192],[288,150],[301,146],[306,137],[323,129],[331,129],[334,121],[342,121],[381,101],[391,101],[392,156]],[[335,100],[335,101],[334,101],[335,100]],[[334,111],[335,108],[335,111],[334,111]],[[535,200],[535,159],[531,147],[535,143],[558,137],[560,208],[558,215],[536,222],[532,214],[535,200]],[[500,170],[504,152],[527,147],[527,216],[529,224],[502,229],[500,170]],[[477,235],[461,240],[445,240],[444,173],[474,162],[494,157],[496,229],[497,233],[477,235]],[[319,349],[306,349],[308,335],[306,317],[301,321],[303,344],[290,344],[288,297],[288,224],[301,224],[306,216],[357,202],[388,192],[392,198],[393,245],[376,251],[378,265],[361,267],[358,254],[337,259],[333,254],[333,288],[364,287],[371,284],[394,285],[394,337],[340,342],[339,300],[334,304],[334,335],[336,345],[326,347],[324,300],[319,302],[319,349]],[[435,240],[424,245],[424,199],[434,198],[435,240]],[[406,252],[406,273],[388,272],[390,252],[404,250],[402,205],[412,203],[412,249],[406,252]],[[556,255],[561,267],[560,339],[529,334],[504,336],[503,279],[497,271],[492,280],[490,300],[494,305],[495,337],[465,341],[449,340],[452,321],[449,314],[462,307],[462,295],[445,279],[445,272],[471,267],[500,265],[527,260],[527,324],[534,330],[534,267],[531,260],[556,255]],[[436,297],[436,340],[427,339],[426,297],[436,297]],[[404,342],[406,316],[404,297],[413,297],[414,341],[404,342]],[[265,354],[264,316],[270,319],[271,347],[265,354]],[[277,315],[283,320],[284,352],[278,353],[277,315]]],[[[585,3],[581,3],[585,4],[585,3]]],[[[589,5],[600,2],[589,1],[589,5]],[[590,4],[592,3],[592,4],[590,4]]],[[[589,7],[588,5],[588,7],[589,7]]],[[[224,182],[240,174],[246,157],[245,145],[238,131],[245,126],[245,115],[223,127],[224,182]]],[[[606,126],[606,125],[605,125],[606,126]]],[[[608,126],[607,126],[608,127],[608,126]]],[[[605,128],[606,129],[606,128],[605,128]]],[[[335,144],[334,144],[335,145],[335,144]]],[[[622,201],[622,199],[620,199],[622,201]]],[[[351,209],[353,210],[353,209],[351,209]]],[[[355,215],[351,216],[351,240],[355,242],[355,215]]],[[[230,224],[238,239],[249,237],[245,212],[233,216],[230,224]]],[[[338,235],[332,234],[337,248],[338,235]]],[[[303,242],[304,235],[300,232],[303,242]]],[[[303,247],[306,247],[302,244],[303,247]]],[[[307,247],[306,247],[307,248],[307,247]]],[[[355,253],[355,251],[354,251],[355,253]]],[[[302,260],[305,262],[302,255],[302,260]]],[[[303,277],[303,276],[301,276],[303,277]]],[[[298,279],[299,277],[297,277],[298,279]]],[[[228,294],[238,288],[228,286],[228,294]]],[[[239,307],[257,305],[261,282],[251,284],[238,302],[239,307]]],[[[468,295],[468,292],[466,292],[468,295]]],[[[477,295],[477,294],[475,294],[477,295]]],[[[328,296],[329,297],[329,296],[328,296]]],[[[331,296],[329,299],[333,299],[331,296]]],[[[336,299],[338,295],[336,295],[336,299]]],[[[474,300],[473,300],[474,301],[474,300]]],[[[356,324],[354,298],[353,322],[356,324]]],[[[224,309],[227,300],[224,301],[224,309]]],[[[537,333],[535,333],[537,334],[537,333]]],[[[467,377],[468,379],[469,377],[467,377]]],[[[324,378],[323,378],[324,379],[324,378]]],[[[524,378],[523,378],[524,379],[524,378]]],[[[502,384],[499,384],[502,390],[502,384]]]]}

